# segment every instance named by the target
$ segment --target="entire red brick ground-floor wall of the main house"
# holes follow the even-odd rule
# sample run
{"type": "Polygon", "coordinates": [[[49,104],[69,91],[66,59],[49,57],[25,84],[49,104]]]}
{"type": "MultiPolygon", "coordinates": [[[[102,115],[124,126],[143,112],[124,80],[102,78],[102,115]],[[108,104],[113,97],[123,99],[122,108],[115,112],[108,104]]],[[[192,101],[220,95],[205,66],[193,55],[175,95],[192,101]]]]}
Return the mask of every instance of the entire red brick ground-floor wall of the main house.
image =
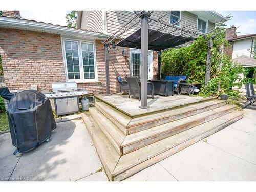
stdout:
{"type": "MultiPolygon", "coordinates": [[[[96,40],[97,82],[79,82],[90,93],[105,93],[105,55],[103,44],[96,40]]],[[[0,56],[5,82],[11,89],[51,90],[52,82],[65,81],[60,36],[26,30],[0,28],[0,56]]],[[[116,76],[130,75],[129,48],[110,50],[111,93],[119,92],[116,76]],[[125,49],[127,57],[122,56],[125,49]]],[[[157,54],[153,54],[153,75],[157,75],[157,54]]]]}

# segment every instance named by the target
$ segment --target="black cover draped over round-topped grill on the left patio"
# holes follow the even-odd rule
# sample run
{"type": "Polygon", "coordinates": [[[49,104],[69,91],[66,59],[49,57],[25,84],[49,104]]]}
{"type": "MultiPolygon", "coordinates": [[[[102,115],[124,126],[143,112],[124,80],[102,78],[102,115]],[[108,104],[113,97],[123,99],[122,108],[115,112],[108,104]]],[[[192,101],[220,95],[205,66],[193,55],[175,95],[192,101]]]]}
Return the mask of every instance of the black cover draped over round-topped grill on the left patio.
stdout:
{"type": "Polygon", "coordinates": [[[8,106],[12,144],[23,153],[50,138],[56,128],[48,97],[36,90],[17,93],[8,106]]]}

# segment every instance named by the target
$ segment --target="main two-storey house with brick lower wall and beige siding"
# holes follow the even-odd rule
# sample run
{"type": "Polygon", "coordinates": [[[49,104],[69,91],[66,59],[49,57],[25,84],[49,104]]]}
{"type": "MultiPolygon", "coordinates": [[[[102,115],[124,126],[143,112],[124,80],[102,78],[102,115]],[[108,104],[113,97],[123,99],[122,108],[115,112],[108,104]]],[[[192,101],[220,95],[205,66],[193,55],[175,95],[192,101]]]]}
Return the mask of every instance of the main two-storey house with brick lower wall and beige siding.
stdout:
{"type": "MultiPolygon", "coordinates": [[[[78,11],[77,29],[20,19],[17,13],[2,11],[3,16],[0,17],[0,55],[5,82],[10,89],[30,89],[36,85],[38,90],[51,90],[52,82],[76,81],[79,88],[87,89],[90,93],[105,93],[102,42],[135,13],[78,11]]],[[[214,11],[154,11],[152,15],[165,15],[161,19],[167,23],[202,33],[212,32],[215,23],[225,20],[214,11]]],[[[157,25],[150,28],[159,28],[157,25]]],[[[139,27],[140,24],[137,24],[122,38],[139,27]]],[[[169,31],[166,28],[162,32],[169,31]]],[[[119,91],[116,76],[140,73],[140,50],[117,46],[109,53],[111,93],[116,93],[119,91]],[[126,56],[123,52],[127,53],[126,56]]],[[[149,78],[156,78],[157,53],[149,51],[148,60],[149,78]]]]}

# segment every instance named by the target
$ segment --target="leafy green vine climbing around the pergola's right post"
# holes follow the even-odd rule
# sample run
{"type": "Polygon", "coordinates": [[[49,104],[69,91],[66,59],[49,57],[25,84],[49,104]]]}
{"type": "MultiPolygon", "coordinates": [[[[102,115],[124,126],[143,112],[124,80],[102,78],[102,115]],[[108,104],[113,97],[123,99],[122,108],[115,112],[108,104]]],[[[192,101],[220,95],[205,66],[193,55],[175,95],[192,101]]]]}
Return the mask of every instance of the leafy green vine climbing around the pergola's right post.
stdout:
{"type": "MultiPolygon", "coordinates": [[[[228,16],[228,19],[231,18],[228,16]]],[[[233,86],[241,87],[242,79],[239,74],[244,69],[232,63],[230,58],[221,53],[222,45],[228,46],[225,39],[225,24],[223,22],[216,24],[213,33],[199,36],[193,43],[181,48],[172,48],[165,50],[161,55],[161,61],[164,64],[161,73],[165,75],[187,75],[187,81],[190,83],[201,83],[200,95],[209,96],[217,94],[229,94],[238,96],[238,92],[232,90],[233,86]],[[208,86],[204,87],[205,69],[207,58],[207,42],[210,38],[213,40],[211,48],[211,73],[208,86]],[[221,68],[220,68],[221,65],[221,68]],[[220,83],[219,92],[217,92],[220,83]]]]}

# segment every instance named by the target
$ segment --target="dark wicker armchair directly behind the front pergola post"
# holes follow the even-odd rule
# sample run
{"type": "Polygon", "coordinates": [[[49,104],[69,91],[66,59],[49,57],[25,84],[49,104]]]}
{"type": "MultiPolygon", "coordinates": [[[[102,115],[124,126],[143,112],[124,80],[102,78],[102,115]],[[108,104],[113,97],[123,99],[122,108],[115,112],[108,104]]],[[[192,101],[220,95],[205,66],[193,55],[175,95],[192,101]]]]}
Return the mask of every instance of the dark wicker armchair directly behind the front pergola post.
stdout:
{"type": "MultiPolygon", "coordinates": [[[[139,78],[136,76],[133,77],[125,77],[125,80],[128,82],[129,86],[129,98],[130,95],[141,98],[141,88],[139,78]]],[[[147,82],[147,94],[151,95],[151,98],[154,99],[154,85],[152,82],[147,82]]]]}

